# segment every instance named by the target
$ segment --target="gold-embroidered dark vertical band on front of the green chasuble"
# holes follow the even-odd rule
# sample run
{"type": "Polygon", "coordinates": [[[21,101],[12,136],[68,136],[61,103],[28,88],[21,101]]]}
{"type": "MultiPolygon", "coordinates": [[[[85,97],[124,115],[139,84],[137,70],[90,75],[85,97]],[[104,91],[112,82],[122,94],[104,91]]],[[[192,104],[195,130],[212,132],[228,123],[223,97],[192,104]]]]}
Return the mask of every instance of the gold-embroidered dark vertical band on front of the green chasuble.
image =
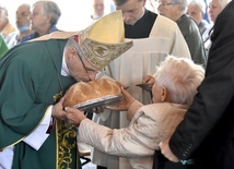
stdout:
{"type": "MultiPolygon", "coordinates": [[[[57,120],[58,169],[73,169],[77,161],[77,131],[74,125],[57,120]]],[[[78,161],[77,161],[78,162],[78,161]]]]}

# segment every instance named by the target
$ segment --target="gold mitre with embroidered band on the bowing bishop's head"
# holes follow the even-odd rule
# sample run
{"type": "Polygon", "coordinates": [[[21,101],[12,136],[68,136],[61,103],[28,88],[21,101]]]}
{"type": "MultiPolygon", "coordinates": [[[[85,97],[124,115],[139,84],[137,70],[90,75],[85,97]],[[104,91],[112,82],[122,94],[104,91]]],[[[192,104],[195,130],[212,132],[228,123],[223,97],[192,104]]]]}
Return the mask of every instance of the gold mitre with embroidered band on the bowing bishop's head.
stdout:
{"type": "Polygon", "coordinates": [[[103,16],[90,27],[78,33],[78,44],[84,58],[102,69],[132,47],[125,41],[121,11],[103,16]]]}

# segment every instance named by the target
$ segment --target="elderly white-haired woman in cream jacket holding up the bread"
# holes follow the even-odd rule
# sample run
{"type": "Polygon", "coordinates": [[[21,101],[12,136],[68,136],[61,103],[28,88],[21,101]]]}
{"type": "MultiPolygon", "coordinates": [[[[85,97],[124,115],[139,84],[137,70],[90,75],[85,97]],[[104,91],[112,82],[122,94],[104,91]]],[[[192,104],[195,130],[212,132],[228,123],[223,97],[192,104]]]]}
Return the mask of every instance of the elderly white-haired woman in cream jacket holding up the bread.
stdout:
{"type": "Polygon", "coordinates": [[[107,154],[128,157],[133,169],[152,169],[154,150],[183,120],[203,76],[203,68],[190,59],[168,56],[155,73],[154,104],[143,106],[122,89],[125,99],[112,107],[128,110],[131,122],[127,128],[106,128],[72,108],[66,108],[67,118],[78,125],[80,141],[107,154]]]}

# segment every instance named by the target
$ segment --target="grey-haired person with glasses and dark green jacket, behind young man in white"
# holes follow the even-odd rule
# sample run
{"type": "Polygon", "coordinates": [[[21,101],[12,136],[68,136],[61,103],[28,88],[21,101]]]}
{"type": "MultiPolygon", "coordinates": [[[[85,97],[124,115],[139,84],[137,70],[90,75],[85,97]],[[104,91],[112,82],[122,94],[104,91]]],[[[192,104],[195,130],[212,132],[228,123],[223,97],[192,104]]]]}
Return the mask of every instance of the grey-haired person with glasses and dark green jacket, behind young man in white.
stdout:
{"type": "Polygon", "coordinates": [[[160,0],[159,13],[175,21],[188,45],[195,63],[206,65],[203,40],[197,24],[186,14],[188,0],[160,0]]]}

